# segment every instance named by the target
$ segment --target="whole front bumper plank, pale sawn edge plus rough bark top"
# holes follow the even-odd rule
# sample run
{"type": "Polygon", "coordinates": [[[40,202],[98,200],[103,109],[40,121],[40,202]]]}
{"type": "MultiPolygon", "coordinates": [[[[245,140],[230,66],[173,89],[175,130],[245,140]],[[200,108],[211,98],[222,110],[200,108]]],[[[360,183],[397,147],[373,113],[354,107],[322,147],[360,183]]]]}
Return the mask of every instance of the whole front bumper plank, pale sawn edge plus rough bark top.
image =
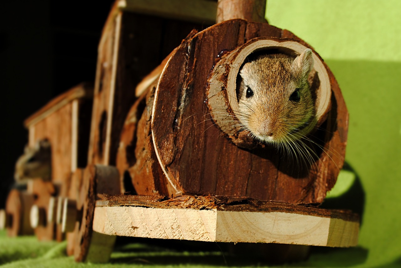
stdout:
{"type": "Polygon", "coordinates": [[[251,198],[105,195],[97,201],[93,230],[146,238],[349,247],[358,242],[358,220],[346,211],[251,198]]]}

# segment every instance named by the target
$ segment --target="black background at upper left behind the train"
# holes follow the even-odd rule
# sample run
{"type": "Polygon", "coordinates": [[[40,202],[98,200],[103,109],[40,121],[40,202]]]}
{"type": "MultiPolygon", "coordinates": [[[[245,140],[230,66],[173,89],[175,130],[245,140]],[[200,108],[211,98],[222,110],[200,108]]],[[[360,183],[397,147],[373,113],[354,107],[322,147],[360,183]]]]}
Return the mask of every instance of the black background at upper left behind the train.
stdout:
{"type": "Polygon", "coordinates": [[[0,208],[28,142],[24,119],[82,81],[94,81],[97,44],[113,0],[0,4],[0,208]]]}

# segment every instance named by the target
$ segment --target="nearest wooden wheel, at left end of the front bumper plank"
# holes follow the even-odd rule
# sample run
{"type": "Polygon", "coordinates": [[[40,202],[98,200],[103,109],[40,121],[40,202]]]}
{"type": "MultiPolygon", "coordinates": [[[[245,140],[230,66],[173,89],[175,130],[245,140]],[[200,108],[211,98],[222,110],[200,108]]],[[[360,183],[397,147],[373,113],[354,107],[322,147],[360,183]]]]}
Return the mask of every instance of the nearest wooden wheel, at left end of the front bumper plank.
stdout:
{"type": "MultiPolygon", "coordinates": [[[[93,232],[93,214],[98,193],[119,194],[119,173],[115,167],[89,165],[83,174],[83,181],[77,199],[79,222],[75,229],[74,256],[77,262],[107,262],[113,250],[115,236],[93,232]]],[[[73,213],[66,213],[71,216],[73,213]]],[[[68,218],[66,222],[70,222],[68,218]]]]}

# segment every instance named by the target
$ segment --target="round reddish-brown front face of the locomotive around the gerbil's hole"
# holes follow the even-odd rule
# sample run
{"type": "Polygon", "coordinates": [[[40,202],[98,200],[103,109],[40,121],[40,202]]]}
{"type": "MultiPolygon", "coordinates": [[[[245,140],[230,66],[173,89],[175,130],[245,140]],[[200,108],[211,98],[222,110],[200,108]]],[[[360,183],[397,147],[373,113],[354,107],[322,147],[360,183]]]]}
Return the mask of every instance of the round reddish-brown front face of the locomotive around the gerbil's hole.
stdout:
{"type": "Polygon", "coordinates": [[[228,105],[236,101],[225,96],[226,83],[229,81],[228,88],[233,90],[244,58],[265,47],[280,48],[294,56],[311,48],[287,30],[235,19],[188,36],[168,60],[154,93],[151,134],[165,185],[177,185],[169,190],[169,196],[246,196],[306,204],[322,202],[333,187],[344,163],[348,112],[336,79],[313,49],[314,71],[320,83],[316,103],[320,126],[306,141],[310,161],[302,156],[299,161],[289,159],[273,146],[241,149],[213,121],[213,107],[233,113],[228,105]],[[229,66],[218,81],[214,75],[227,67],[225,58],[237,66],[229,66]],[[212,83],[223,82],[223,86],[208,92],[209,78],[212,83]]]}

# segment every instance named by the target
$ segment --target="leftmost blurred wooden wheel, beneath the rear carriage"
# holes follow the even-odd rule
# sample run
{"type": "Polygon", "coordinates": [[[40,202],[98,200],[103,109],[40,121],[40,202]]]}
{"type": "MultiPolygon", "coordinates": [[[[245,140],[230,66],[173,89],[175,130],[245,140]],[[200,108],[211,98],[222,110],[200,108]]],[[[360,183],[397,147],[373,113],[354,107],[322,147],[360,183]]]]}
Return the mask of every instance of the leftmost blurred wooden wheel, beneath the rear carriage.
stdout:
{"type": "MultiPolygon", "coordinates": [[[[8,193],[6,209],[2,212],[2,220],[7,235],[10,237],[32,235],[33,229],[30,226],[30,208],[34,203],[34,196],[26,191],[12,189],[8,193]]],[[[1,229],[1,228],[0,228],[1,229]]]]}

